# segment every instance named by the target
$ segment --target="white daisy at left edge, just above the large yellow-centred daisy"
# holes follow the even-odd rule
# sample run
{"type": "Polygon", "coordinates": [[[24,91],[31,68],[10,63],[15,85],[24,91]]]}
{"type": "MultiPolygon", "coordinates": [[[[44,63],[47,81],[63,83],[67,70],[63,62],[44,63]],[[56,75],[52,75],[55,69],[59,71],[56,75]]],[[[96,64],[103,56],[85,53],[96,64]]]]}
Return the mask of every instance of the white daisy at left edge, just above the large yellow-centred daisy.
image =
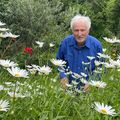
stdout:
{"type": "Polygon", "coordinates": [[[8,67],[15,67],[18,64],[14,63],[14,62],[12,62],[10,60],[0,60],[0,65],[2,65],[5,68],[8,68],[8,67]]]}

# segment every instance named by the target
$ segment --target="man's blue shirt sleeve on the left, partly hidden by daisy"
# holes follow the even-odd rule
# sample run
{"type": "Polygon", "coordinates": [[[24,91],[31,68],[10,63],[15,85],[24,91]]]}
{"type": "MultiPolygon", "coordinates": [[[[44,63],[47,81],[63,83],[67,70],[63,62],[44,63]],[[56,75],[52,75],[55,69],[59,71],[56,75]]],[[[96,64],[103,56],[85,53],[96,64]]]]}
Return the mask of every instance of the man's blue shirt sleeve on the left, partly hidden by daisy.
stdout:
{"type": "MultiPolygon", "coordinates": [[[[60,46],[59,46],[56,58],[64,61],[65,60],[64,59],[64,54],[65,54],[65,45],[62,41],[60,46]]],[[[66,77],[65,72],[60,72],[60,79],[62,79],[64,77],[66,77]]]]}

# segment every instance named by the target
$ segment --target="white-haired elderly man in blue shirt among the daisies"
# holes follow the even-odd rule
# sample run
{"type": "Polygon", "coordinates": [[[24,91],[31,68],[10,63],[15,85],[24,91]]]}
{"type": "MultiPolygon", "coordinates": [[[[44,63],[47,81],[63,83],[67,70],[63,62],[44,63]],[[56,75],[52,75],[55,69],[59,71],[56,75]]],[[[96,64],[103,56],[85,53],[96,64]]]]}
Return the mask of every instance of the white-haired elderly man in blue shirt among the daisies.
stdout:
{"type": "MultiPolygon", "coordinates": [[[[91,20],[88,16],[76,15],[71,20],[72,35],[67,36],[60,44],[57,59],[66,61],[66,68],[70,71],[81,74],[89,74],[95,69],[94,60],[98,60],[97,53],[102,53],[101,43],[93,36],[89,35],[91,20]],[[88,59],[92,56],[95,59],[88,59]],[[90,63],[86,68],[83,63],[90,63]]],[[[74,79],[71,75],[66,76],[65,72],[60,72],[61,84],[66,88],[66,83],[71,83],[74,79]]],[[[88,85],[84,85],[87,90],[88,85]]]]}

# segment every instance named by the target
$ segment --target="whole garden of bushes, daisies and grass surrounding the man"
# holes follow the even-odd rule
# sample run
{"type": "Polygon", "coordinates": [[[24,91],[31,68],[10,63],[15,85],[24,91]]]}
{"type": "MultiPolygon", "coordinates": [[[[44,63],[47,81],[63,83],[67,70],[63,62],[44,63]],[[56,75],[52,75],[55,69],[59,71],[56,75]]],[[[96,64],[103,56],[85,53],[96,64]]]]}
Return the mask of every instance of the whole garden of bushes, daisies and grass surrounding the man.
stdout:
{"type": "MultiPolygon", "coordinates": [[[[0,1],[0,119],[119,120],[119,11],[119,0],[0,1]],[[103,46],[98,57],[104,61],[95,60],[89,80],[56,59],[76,14],[91,18],[90,34],[103,46]],[[67,90],[60,84],[61,71],[75,78],[67,90]],[[79,78],[89,84],[88,92],[76,88],[79,78]]],[[[94,59],[87,57],[90,63],[94,59]]]]}

